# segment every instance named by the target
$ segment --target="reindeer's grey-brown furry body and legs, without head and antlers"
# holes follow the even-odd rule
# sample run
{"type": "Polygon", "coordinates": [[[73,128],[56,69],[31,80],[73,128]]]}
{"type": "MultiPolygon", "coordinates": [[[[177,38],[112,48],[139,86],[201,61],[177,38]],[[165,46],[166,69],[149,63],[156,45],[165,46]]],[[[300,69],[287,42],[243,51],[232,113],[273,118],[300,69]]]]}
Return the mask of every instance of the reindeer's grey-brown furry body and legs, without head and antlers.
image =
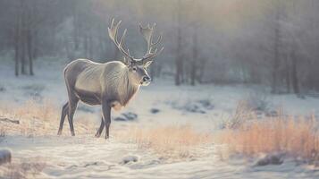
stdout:
{"type": "MultiPolygon", "coordinates": [[[[130,67],[120,61],[98,64],[78,59],[68,64],[64,69],[64,80],[69,102],[63,107],[58,134],[62,133],[64,117],[68,115],[71,134],[74,135],[72,117],[79,100],[88,105],[102,105],[103,117],[107,118],[102,119],[102,123],[111,123],[108,111],[112,107],[115,110],[125,107],[139,90],[141,79],[145,76],[148,77],[145,70],[131,72],[130,67]]],[[[103,128],[98,130],[97,136],[101,130],[103,128]]]]}

